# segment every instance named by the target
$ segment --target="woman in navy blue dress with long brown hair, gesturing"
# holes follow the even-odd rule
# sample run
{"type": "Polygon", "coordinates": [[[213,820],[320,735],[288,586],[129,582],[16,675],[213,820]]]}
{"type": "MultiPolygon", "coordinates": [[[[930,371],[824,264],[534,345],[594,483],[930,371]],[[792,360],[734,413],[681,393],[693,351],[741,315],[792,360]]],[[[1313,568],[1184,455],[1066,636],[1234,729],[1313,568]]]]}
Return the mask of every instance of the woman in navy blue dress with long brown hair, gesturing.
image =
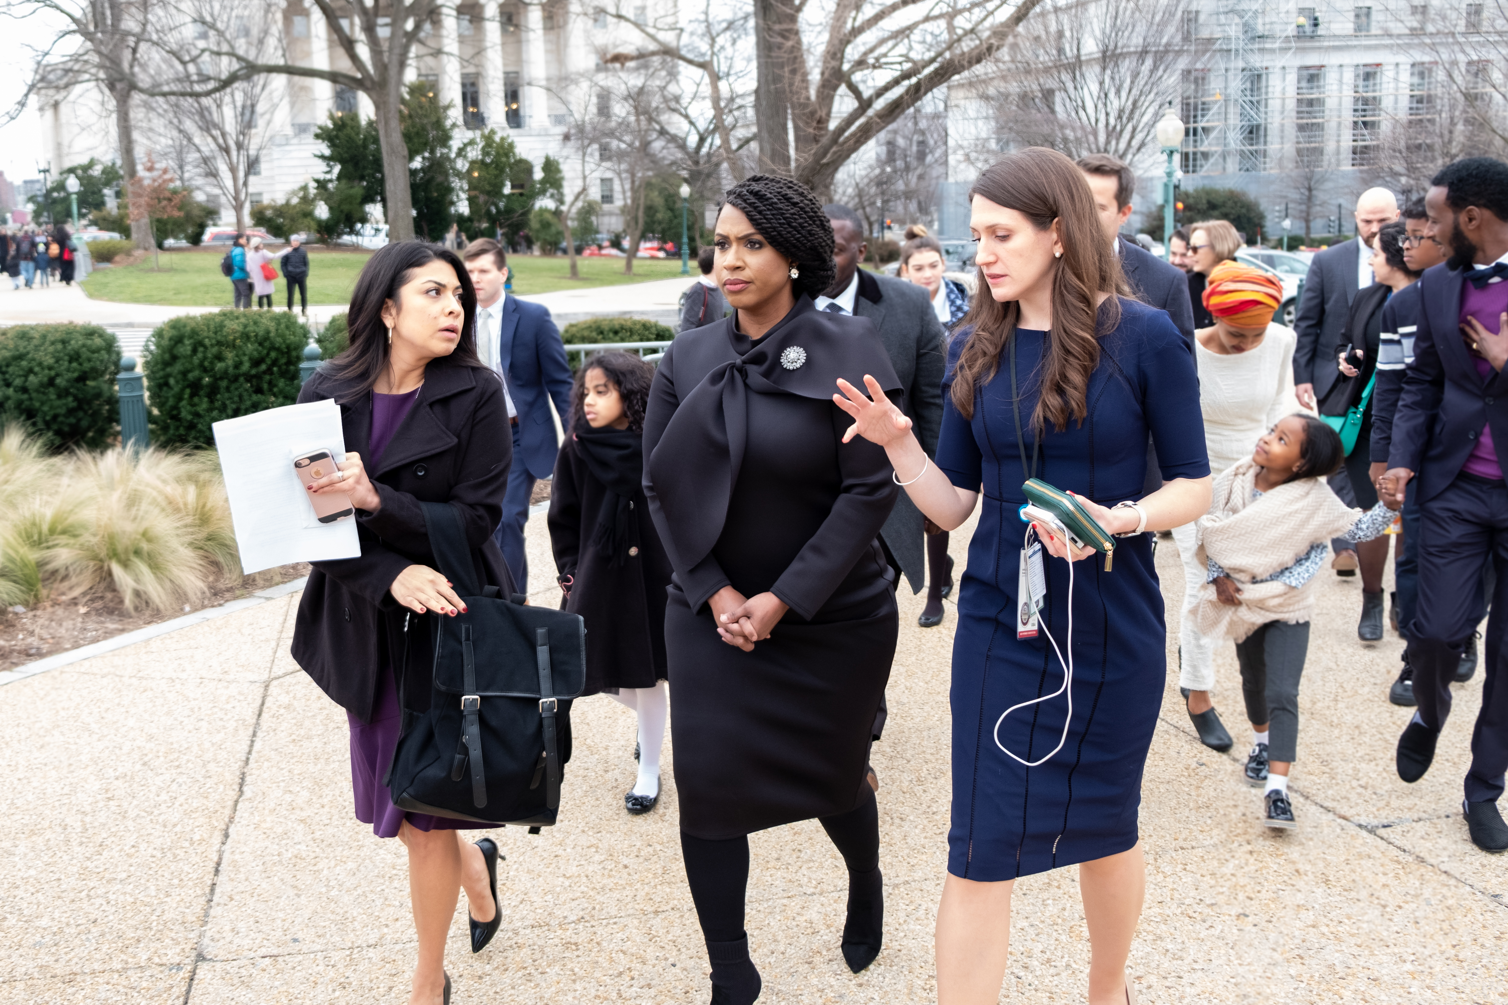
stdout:
{"type": "Polygon", "coordinates": [[[1145,532],[1176,527],[1209,505],[1199,387],[1167,315],[1125,295],[1119,259],[1071,160],[1042,148],[1010,154],[979,176],[970,199],[979,285],[991,295],[976,298],[949,350],[936,466],[876,389],[866,398],[840,383],[835,396],[855,417],[849,435],[885,448],[929,520],[958,527],[985,496],[953,645],[938,1000],[995,1002],[1013,880],[1077,863],[1092,945],[1089,1000],[1120,1003],[1131,1000],[1125,961],[1145,887],[1142,768],[1166,672],[1163,595],[1145,532]],[[1164,485],[1134,502],[1148,434],[1164,485]],[[1018,509],[1033,467],[1120,538],[1113,571],[1096,551],[1072,550],[1071,646],[1069,567],[1060,561],[1068,544],[1047,529],[1042,544],[1056,556],[1044,556],[1047,631],[1018,637],[1027,530],[1018,509]],[[1069,695],[1053,696],[1065,667],[1048,633],[1071,651],[1069,695]],[[1001,719],[1034,699],[1045,701],[1001,719]]]}

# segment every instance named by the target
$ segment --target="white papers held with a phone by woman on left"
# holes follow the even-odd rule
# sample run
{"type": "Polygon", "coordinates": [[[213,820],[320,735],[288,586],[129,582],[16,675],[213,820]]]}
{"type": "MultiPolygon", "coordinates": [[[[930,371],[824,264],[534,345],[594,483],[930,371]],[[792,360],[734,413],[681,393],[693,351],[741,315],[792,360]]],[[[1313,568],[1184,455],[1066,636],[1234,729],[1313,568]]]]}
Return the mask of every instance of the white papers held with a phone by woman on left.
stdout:
{"type": "Polygon", "coordinates": [[[303,451],[345,460],[341,407],[330,399],[268,408],[214,423],[225,491],[231,497],[241,571],[290,562],[353,559],[362,553],[356,520],[312,521],[308,493],[293,470],[303,451]]]}

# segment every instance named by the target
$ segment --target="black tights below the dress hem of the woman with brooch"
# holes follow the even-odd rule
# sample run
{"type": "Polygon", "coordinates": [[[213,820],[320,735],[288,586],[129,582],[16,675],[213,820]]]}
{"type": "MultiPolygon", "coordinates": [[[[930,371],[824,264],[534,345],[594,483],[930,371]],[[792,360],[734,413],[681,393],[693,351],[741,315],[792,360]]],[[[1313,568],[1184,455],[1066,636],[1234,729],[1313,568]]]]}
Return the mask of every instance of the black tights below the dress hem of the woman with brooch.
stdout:
{"type": "MultiPolygon", "coordinates": [[[[860,805],[837,817],[819,817],[822,829],[843,856],[849,872],[879,868],[879,809],[875,791],[860,787],[860,805]]],[[[743,904],[749,884],[749,839],[707,841],[680,832],[691,900],[707,942],[737,942],[743,933],[743,904]]]]}

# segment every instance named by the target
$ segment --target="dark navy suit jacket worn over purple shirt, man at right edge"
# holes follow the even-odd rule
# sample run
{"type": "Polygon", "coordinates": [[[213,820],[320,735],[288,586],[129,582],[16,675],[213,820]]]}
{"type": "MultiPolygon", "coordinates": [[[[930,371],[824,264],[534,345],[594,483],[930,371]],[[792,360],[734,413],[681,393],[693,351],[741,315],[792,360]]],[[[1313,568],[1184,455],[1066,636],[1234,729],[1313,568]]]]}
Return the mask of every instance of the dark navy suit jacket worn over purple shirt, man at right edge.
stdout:
{"type": "Polygon", "coordinates": [[[1407,467],[1418,476],[1421,505],[1455,481],[1484,425],[1491,426],[1497,463],[1508,472],[1508,378],[1478,377],[1461,341],[1464,282],[1461,273],[1436,265],[1418,283],[1424,310],[1387,467],[1407,467]]]}

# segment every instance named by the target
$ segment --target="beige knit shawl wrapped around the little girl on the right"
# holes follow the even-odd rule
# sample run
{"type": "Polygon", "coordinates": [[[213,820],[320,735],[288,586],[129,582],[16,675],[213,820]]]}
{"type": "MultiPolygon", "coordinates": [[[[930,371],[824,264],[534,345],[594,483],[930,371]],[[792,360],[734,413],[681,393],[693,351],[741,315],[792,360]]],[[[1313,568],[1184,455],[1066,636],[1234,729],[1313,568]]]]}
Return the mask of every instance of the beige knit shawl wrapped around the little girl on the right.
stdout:
{"type": "Polygon", "coordinates": [[[1214,583],[1200,588],[1199,603],[1188,616],[1206,636],[1241,642],[1270,621],[1309,621],[1313,580],[1300,589],[1277,580],[1253,580],[1280,573],[1315,544],[1350,530],[1362,515],[1318,478],[1300,478],[1253,500],[1259,470],[1246,458],[1223,472],[1215,479],[1209,512],[1194,524],[1200,568],[1214,559],[1241,588],[1241,603],[1234,607],[1217,600],[1214,583]]]}

